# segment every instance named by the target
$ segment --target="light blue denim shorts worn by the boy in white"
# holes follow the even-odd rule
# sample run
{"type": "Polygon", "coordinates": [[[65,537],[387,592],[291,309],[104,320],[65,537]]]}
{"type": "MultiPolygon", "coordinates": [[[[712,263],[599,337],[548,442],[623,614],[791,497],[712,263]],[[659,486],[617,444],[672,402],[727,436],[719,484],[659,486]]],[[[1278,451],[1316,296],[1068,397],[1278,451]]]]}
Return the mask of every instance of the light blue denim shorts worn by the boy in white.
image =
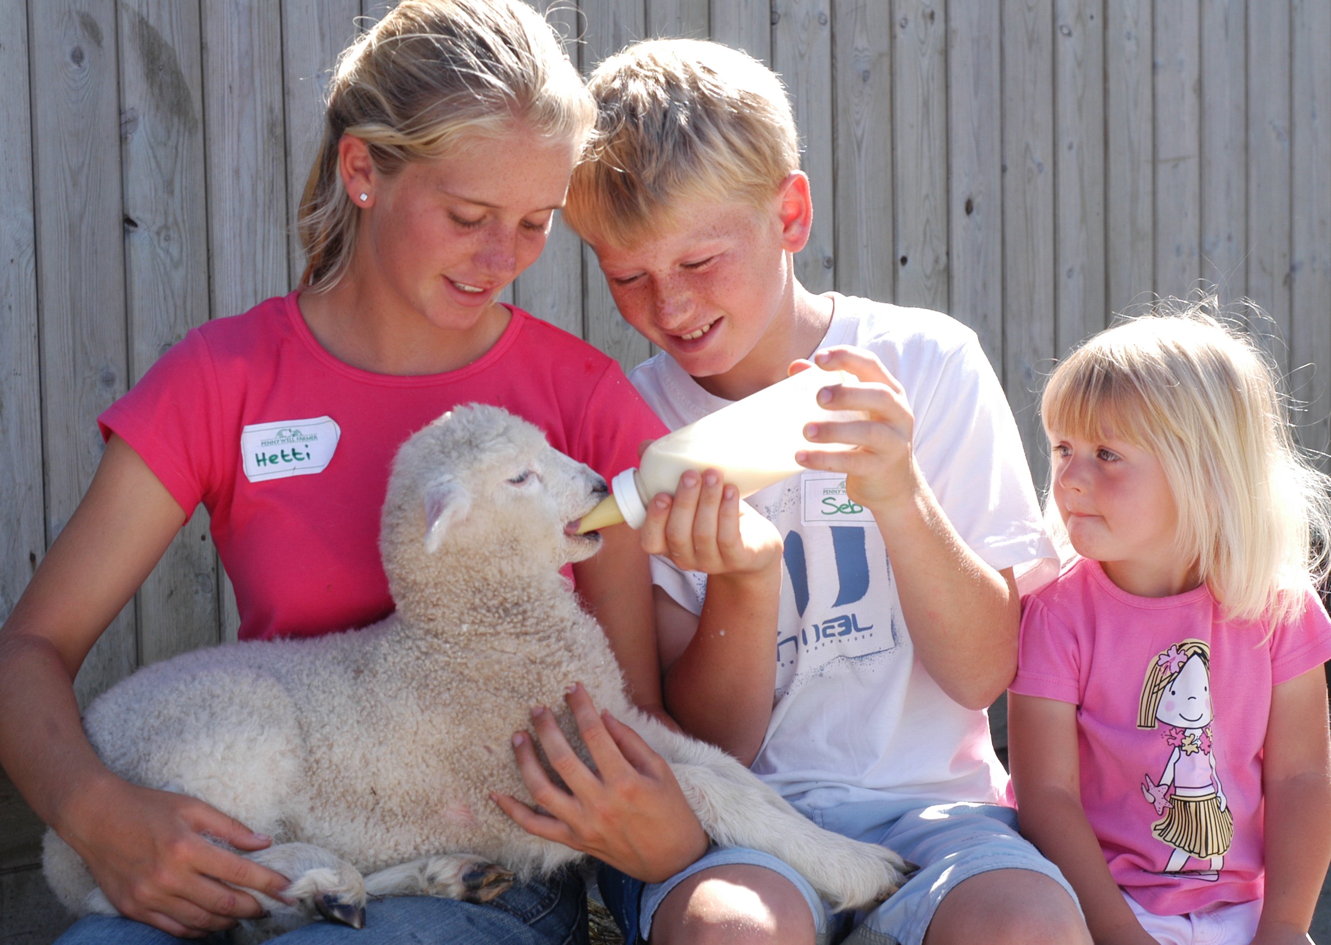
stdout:
{"type": "Polygon", "coordinates": [[[644,884],[602,866],[598,872],[606,908],[628,942],[651,936],[652,916],[683,880],[712,866],[765,866],[800,890],[813,913],[819,945],[920,945],[942,897],[960,882],[992,869],[1029,869],[1061,885],[1077,901],[1058,866],[1017,833],[1017,812],[997,804],[914,807],[914,800],[872,800],[823,809],[804,809],[819,827],[865,843],[890,847],[920,866],[886,902],[858,913],[833,913],[808,880],[776,857],[741,847],[713,847],[688,869],[664,882],[644,884]]]}

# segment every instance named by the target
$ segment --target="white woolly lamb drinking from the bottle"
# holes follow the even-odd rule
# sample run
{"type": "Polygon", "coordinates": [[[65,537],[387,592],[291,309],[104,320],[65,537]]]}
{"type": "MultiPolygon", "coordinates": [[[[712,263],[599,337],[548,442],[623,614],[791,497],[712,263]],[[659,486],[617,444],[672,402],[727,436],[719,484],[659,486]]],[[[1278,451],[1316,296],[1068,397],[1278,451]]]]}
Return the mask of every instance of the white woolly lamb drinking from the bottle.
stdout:
{"type": "MultiPolygon", "coordinates": [[[[890,894],[894,853],[815,827],[732,757],[626,696],[604,634],[558,572],[599,547],[570,523],[604,495],[600,476],[504,410],[445,414],[394,462],[379,540],[393,616],[145,667],[89,707],[88,737],[121,777],[273,836],[248,856],[291,878],[297,906],[264,898],[273,918],[260,934],[319,914],[359,928],[366,894],[487,901],[514,877],[579,858],[488,800],[531,803],[510,737],[532,704],[555,712],[590,763],[563,700],[572,681],[671,763],[717,844],[781,857],[835,908],[890,894]]],[[[114,914],[55,832],[45,872],[73,912],[114,914]]]]}

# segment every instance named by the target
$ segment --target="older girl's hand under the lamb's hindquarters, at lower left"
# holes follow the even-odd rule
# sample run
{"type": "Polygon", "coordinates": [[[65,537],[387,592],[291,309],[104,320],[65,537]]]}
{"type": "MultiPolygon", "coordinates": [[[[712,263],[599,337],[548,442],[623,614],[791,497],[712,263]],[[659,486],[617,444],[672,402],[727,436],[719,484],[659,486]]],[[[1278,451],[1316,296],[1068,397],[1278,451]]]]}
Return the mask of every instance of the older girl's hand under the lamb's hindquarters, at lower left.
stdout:
{"type": "Polygon", "coordinates": [[[67,820],[61,836],[121,914],[193,938],[264,914],[234,886],[285,898],[285,876],[208,837],[241,850],[264,849],[272,840],[204,801],[120,779],[84,796],[91,804],[67,820]]]}

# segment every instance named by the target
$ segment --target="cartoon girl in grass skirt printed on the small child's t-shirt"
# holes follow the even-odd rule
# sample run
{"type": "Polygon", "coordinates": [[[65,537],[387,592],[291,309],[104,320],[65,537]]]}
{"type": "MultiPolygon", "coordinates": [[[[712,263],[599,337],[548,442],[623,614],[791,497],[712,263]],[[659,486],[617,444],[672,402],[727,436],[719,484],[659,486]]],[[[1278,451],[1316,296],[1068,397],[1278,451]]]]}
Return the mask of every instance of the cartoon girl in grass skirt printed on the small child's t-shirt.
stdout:
{"type": "Polygon", "coordinates": [[[1153,784],[1150,775],[1142,783],[1142,795],[1163,815],[1151,832],[1174,848],[1162,872],[1214,881],[1234,839],[1234,815],[1215,771],[1210,664],[1210,647],[1201,640],[1183,640],[1153,658],[1137,727],[1163,723],[1171,748],[1159,783],[1153,784]],[[1185,870],[1189,857],[1209,860],[1210,869],[1185,870]]]}

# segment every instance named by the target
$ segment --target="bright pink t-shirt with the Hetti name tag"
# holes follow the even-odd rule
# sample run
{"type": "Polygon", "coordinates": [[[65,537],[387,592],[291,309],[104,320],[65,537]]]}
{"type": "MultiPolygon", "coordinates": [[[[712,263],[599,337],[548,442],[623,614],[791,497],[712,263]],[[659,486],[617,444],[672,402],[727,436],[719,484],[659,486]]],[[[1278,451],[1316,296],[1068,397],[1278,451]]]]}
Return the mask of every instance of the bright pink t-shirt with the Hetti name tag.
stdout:
{"type": "Polygon", "coordinates": [[[391,612],[378,550],[390,465],[459,403],[531,421],[607,479],[666,431],[615,361],[520,309],[474,363],[397,377],[329,354],[295,297],[194,329],[98,418],[186,514],[208,508],[241,639],[313,636],[391,612]]]}

